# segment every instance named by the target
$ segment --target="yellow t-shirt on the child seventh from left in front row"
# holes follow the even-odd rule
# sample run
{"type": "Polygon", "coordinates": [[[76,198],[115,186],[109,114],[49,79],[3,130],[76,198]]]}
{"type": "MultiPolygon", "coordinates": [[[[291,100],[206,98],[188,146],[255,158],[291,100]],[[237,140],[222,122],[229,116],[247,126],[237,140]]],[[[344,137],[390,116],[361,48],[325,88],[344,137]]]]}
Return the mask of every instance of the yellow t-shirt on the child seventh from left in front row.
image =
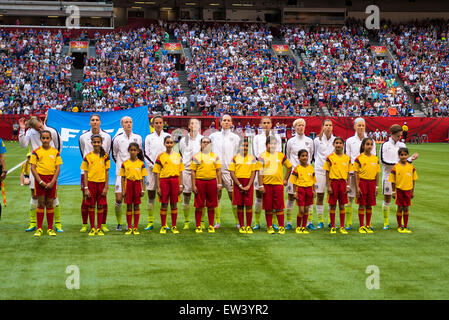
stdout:
{"type": "Polygon", "coordinates": [[[269,153],[265,151],[259,156],[259,174],[263,176],[263,184],[284,184],[284,168],[292,164],[282,152],[269,153]]]}

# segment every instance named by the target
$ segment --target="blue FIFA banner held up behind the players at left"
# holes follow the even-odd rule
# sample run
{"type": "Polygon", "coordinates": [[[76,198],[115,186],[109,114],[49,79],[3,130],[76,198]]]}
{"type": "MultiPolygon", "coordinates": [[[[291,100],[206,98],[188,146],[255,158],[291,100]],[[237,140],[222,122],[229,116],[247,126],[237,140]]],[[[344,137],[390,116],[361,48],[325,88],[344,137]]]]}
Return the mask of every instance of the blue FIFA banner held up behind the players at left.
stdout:
{"type": "MultiPolygon", "coordinates": [[[[83,158],[79,148],[79,137],[84,132],[90,130],[89,120],[90,116],[94,113],[100,115],[101,129],[109,133],[111,138],[114,138],[117,131],[121,129],[120,120],[124,116],[129,116],[133,119],[133,133],[142,137],[142,144],[145,141],[145,137],[150,134],[148,108],[146,106],[111,112],[86,113],[49,109],[47,125],[55,128],[59,132],[62,142],[61,157],[63,164],[58,179],[59,185],[80,185],[81,162],[83,158]]],[[[112,160],[112,156],[111,168],[109,169],[109,184],[115,184],[115,163],[112,160]]]]}

